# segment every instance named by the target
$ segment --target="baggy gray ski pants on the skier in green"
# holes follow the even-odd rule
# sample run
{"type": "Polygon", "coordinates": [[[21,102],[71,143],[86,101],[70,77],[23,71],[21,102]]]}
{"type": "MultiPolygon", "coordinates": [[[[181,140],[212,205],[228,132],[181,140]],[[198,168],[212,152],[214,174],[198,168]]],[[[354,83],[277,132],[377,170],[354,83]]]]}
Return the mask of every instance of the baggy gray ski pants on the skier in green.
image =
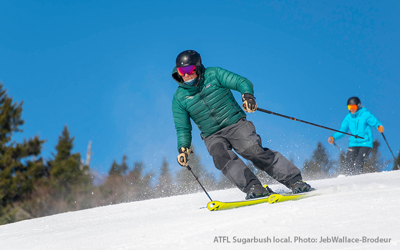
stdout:
{"type": "Polygon", "coordinates": [[[274,179],[289,187],[301,179],[300,170],[277,151],[262,147],[261,138],[251,121],[241,118],[235,124],[204,138],[205,146],[212,156],[214,165],[241,191],[260,183],[255,174],[232,151],[253,162],[274,179]]]}

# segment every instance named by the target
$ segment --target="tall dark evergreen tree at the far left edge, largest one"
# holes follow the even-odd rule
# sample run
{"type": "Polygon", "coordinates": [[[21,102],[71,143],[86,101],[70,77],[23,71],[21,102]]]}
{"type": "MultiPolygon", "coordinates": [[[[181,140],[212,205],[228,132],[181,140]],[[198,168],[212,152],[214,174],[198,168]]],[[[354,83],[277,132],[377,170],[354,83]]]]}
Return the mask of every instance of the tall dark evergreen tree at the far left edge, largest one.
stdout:
{"type": "Polygon", "coordinates": [[[13,133],[22,131],[21,115],[22,102],[12,103],[0,82],[0,224],[29,217],[18,204],[46,172],[43,160],[36,159],[44,140],[35,136],[22,143],[12,141],[13,133]]]}

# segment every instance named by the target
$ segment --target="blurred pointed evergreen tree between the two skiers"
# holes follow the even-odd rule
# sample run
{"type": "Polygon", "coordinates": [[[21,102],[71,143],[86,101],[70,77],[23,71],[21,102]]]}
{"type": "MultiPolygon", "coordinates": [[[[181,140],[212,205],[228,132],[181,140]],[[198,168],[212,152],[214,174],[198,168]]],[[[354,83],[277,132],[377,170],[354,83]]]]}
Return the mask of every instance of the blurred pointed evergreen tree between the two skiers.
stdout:
{"type": "Polygon", "coordinates": [[[305,160],[301,175],[305,179],[323,179],[328,177],[332,165],[325,147],[318,141],[311,159],[305,160]]]}

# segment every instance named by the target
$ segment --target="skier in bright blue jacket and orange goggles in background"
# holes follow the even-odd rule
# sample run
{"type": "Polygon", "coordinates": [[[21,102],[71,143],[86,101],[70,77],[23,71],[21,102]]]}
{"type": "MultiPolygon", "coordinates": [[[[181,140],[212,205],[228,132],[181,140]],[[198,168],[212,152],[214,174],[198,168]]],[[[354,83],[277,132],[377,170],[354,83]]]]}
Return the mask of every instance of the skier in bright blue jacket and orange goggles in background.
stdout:
{"type": "MultiPolygon", "coordinates": [[[[347,153],[345,156],[345,166],[348,174],[360,174],[363,171],[363,164],[372,150],[372,127],[383,133],[384,128],[371,112],[361,106],[361,101],[353,96],[347,100],[349,113],[341,122],[340,131],[347,132],[363,137],[356,138],[351,136],[348,142],[347,153]]],[[[328,138],[328,142],[333,144],[337,139],[344,136],[343,133],[335,132],[328,138]]]]}

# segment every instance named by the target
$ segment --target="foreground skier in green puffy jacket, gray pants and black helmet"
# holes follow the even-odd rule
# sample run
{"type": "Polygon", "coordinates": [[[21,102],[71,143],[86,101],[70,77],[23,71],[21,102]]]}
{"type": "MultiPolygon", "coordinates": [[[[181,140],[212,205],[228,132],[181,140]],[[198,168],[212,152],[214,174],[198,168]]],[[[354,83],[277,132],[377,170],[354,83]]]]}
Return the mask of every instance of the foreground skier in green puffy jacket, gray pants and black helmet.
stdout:
{"type": "Polygon", "coordinates": [[[191,152],[191,118],[201,132],[215,167],[246,193],[246,199],[268,196],[273,191],[261,185],[236,153],[293,193],[311,190],[293,163],[279,152],[262,147],[253,123],[246,120],[244,111],[257,109],[253,84],[247,78],[220,67],[205,68],[200,54],[194,50],[179,53],[175,63],[172,78],[179,86],[173,95],[172,113],[179,152],[177,160],[181,166],[188,165],[187,158],[191,152]],[[231,89],[241,93],[244,111],[231,89]]]}

